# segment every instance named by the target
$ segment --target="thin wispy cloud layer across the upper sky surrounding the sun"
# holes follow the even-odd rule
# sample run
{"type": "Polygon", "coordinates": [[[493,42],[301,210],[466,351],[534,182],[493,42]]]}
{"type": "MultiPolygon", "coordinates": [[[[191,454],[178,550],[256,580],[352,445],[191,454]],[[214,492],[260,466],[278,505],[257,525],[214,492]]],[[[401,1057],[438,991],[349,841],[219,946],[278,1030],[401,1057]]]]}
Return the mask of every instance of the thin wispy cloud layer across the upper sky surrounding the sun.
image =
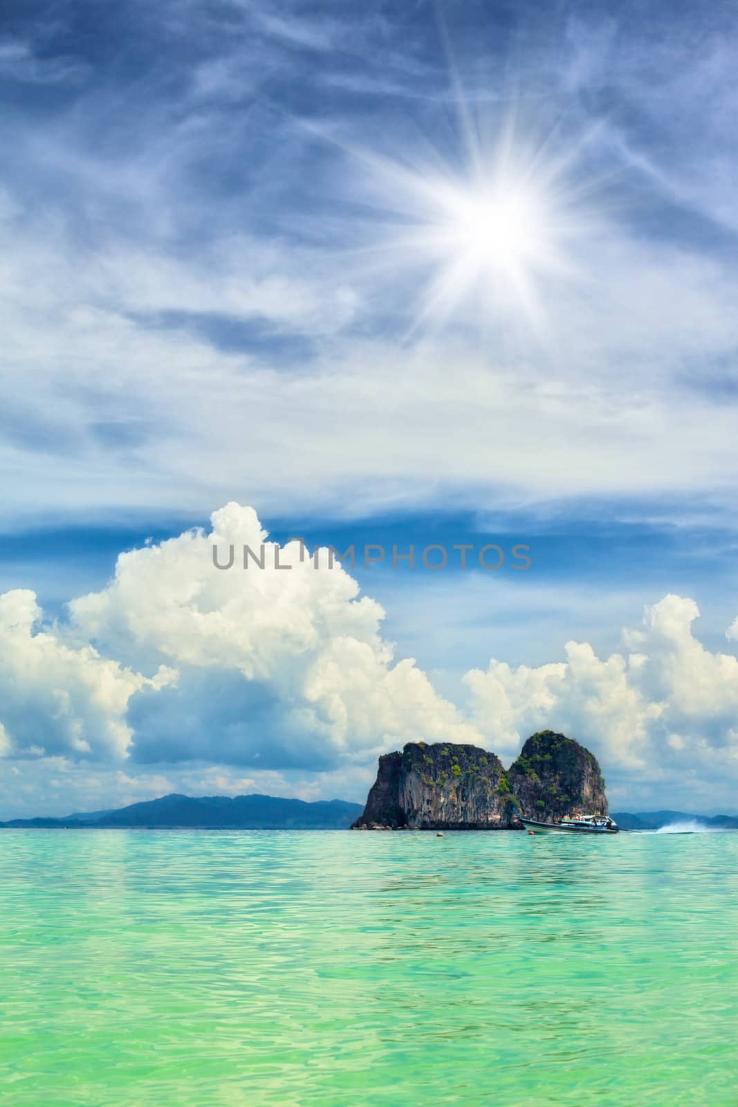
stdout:
{"type": "MultiPolygon", "coordinates": [[[[201,24],[207,34],[187,58],[181,21],[165,4],[147,17],[167,44],[163,70],[144,81],[134,6],[121,68],[104,82],[82,40],[74,54],[71,32],[54,53],[51,29],[34,42],[19,28],[8,56],[48,63],[72,50],[91,69],[61,100],[37,96],[32,128],[19,110],[2,123],[15,151],[0,205],[3,387],[15,412],[0,454],[8,525],[59,513],[62,487],[76,517],[150,515],[175,497],[196,516],[245,485],[268,513],[374,511],[433,496],[564,510],[583,496],[617,496],[653,514],[654,498],[686,493],[732,506],[738,269],[721,237],[725,203],[707,169],[692,159],[687,173],[679,154],[684,128],[701,133],[694,77],[669,76],[668,102],[685,111],[665,113],[637,35],[585,14],[572,13],[548,45],[522,35],[519,46],[557,107],[539,120],[541,134],[557,111],[573,121],[549,135],[545,156],[579,148],[568,187],[589,183],[571,271],[541,284],[533,335],[460,304],[432,340],[415,327],[418,259],[387,245],[387,211],[365,203],[371,162],[355,156],[461,172],[446,114],[449,61],[432,23],[407,35],[402,20],[370,13],[345,37],[329,9],[311,20],[289,6],[274,15],[231,4],[217,18],[191,4],[190,32],[201,24]],[[372,35],[385,37],[383,56],[395,61],[405,43],[414,128],[397,92],[389,116],[382,95],[331,92],[333,66],[339,76],[345,52],[372,35]],[[308,64],[316,49],[320,82],[308,64]],[[600,62],[588,64],[597,58],[610,84],[600,62]],[[420,86],[443,111],[412,106],[420,86]],[[661,159],[658,173],[645,172],[648,157],[661,159]],[[101,437],[100,425],[110,433],[101,437]],[[146,479],[132,484],[137,472],[146,479]]],[[[698,18],[662,28],[662,61],[668,43],[687,49],[698,18]]],[[[641,31],[654,19],[644,14],[641,31]]],[[[727,63],[705,20],[714,49],[699,106],[711,134],[727,63]]],[[[457,31],[462,60],[478,46],[470,28],[457,31]]],[[[480,61],[469,56],[475,87],[480,61]]],[[[20,85],[21,76],[7,74],[20,85]]],[[[514,101],[495,91],[491,106],[469,106],[477,141],[514,101]]],[[[530,104],[526,114],[536,114],[530,104]]],[[[723,178],[732,155],[720,149],[723,178]]]]}

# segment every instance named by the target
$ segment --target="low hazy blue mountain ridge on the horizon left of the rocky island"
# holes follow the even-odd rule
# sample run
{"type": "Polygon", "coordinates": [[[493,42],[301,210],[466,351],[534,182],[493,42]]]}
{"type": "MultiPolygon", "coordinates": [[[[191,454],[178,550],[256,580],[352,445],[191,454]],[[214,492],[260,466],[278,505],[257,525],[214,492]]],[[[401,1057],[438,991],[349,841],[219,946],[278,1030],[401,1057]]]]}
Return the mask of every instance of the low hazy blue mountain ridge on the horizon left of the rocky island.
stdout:
{"type": "Polygon", "coordinates": [[[116,810],[76,813],[64,818],[10,819],[6,828],[98,827],[201,828],[209,830],[346,830],[361,804],[344,799],[281,799],[277,796],[180,796],[129,804],[116,810]]]}

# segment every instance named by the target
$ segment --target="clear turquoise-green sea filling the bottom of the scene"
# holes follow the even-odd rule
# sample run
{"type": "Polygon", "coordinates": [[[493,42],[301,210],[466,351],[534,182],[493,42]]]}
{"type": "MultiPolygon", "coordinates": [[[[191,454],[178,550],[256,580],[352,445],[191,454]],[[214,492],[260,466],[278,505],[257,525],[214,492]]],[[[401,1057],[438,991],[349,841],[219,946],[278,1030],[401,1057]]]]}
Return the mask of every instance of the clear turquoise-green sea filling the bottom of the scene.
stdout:
{"type": "Polygon", "coordinates": [[[738,834],[0,832],[11,1107],[736,1107],[738,834]]]}

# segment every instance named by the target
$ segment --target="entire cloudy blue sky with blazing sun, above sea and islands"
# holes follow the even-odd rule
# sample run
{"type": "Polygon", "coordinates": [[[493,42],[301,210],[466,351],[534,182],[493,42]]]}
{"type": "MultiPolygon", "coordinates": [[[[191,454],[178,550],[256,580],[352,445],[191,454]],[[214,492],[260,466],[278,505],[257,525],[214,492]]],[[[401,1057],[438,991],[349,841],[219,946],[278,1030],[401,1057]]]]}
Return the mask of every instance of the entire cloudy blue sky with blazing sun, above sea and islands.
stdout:
{"type": "Polygon", "coordinates": [[[543,727],[737,810],[737,24],[0,2],[0,818],[543,727]]]}

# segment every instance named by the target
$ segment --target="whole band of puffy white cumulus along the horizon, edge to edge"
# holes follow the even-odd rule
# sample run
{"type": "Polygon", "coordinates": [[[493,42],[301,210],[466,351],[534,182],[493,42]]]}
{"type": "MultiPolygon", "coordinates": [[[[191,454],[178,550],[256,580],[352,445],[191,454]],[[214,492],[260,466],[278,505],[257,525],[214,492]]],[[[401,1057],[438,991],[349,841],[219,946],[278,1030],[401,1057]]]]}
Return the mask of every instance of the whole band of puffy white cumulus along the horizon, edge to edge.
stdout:
{"type": "MultiPolygon", "coordinates": [[[[112,794],[118,772],[126,795],[199,773],[361,798],[377,754],[404,742],[476,743],[510,761],[528,733],[555,726],[594,751],[613,801],[730,804],[738,659],[700,643],[698,614],[666,596],[622,652],[570,642],[539,666],[492,660],[454,704],[395,656],[383,609],[345,569],[301,562],[299,544],[276,547],[251,508],[228,504],[210,532],[121,554],[110,584],[73,600],[63,623],[44,624],[32,593],[0,598],[3,777],[12,787],[17,768],[41,780],[76,765],[112,794]],[[242,546],[262,542],[264,568],[241,568],[242,546]],[[224,556],[233,545],[231,569],[214,567],[214,544],[224,556]],[[291,570],[274,568],[276,549],[291,570]]],[[[29,785],[23,803],[42,795],[29,785]]]]}

